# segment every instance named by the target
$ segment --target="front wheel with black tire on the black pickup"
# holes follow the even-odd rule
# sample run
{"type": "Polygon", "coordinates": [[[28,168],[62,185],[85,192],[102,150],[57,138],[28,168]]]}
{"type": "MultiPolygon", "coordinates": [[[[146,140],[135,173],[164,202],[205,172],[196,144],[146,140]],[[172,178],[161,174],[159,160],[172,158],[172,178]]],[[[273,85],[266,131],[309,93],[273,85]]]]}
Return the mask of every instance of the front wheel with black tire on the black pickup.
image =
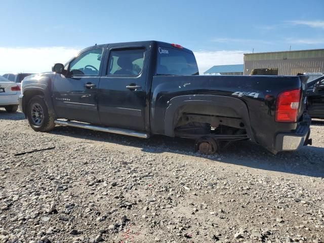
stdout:
{"type": "Polygon", "coordinates": [[[54,116],[49,113],[44,97],[39,95],[28,102],[27,118],[30,127],[36,132],[48,132],[55,127],[54,116]]]}

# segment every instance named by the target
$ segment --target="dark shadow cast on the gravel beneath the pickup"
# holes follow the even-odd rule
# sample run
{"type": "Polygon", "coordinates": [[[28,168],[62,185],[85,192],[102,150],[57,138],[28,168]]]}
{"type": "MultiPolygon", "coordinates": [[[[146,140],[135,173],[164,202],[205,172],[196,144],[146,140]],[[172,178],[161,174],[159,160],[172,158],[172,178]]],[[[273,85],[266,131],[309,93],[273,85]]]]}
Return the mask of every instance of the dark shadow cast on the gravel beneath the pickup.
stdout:
{"type": "Polygon", "coordinates": [[[208,158],[217,161],[217,163],[312,177],[324,177],[324,148],[322,147],[305,146],[299,151],[281,152],[274,155],[250,141],[238,141],[229,145],[220,154],[203,155],[194,152],[194,141],[189,139],[169,138],[166,136],[140,139],[64,126],[57,126],[51,133],[87,139],[88,142],[92,140],[130,146],[130,151],[132,151],[132,147],[138,147],[142,151],[149,153],[171,152],[186,154],[208,158]]]}

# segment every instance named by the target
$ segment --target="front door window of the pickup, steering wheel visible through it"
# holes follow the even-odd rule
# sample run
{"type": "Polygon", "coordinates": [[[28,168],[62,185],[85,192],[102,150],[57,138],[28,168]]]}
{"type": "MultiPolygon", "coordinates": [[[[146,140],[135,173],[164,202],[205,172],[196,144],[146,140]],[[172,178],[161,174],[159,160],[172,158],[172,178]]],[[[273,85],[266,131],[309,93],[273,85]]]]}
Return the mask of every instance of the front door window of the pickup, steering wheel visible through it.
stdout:
{"type": "Polygon", "coordinates": [[[99,75],[102,48],[92,49],[77,56],[69,65],[69,74],[77,76],[99,75]]]}

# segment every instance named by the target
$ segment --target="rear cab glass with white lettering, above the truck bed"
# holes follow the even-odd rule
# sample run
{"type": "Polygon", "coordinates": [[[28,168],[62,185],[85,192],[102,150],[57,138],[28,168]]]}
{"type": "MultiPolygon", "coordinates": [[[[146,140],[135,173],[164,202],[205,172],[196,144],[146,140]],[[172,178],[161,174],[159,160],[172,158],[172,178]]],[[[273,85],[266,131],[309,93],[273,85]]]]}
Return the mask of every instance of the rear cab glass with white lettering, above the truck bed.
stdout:
{"type": "Polygon", "coordinates": [[[159,47],[157,49],[157,75],[198,75],[193,53],[180,49],[159,47]]]}

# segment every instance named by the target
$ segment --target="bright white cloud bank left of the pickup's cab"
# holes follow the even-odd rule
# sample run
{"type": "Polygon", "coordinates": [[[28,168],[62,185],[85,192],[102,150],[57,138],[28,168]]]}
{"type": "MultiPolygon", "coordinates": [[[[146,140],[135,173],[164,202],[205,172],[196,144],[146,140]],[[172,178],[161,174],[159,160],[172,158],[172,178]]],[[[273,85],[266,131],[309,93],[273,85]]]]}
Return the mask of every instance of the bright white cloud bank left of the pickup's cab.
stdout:
{"type": "Polygon", "coordinates": [[[67,47],[0,47],[0,75],[8,72],[39,73],[51,71],[54,63],[60,62],[64,64],[81,49],[67,47]]]}

